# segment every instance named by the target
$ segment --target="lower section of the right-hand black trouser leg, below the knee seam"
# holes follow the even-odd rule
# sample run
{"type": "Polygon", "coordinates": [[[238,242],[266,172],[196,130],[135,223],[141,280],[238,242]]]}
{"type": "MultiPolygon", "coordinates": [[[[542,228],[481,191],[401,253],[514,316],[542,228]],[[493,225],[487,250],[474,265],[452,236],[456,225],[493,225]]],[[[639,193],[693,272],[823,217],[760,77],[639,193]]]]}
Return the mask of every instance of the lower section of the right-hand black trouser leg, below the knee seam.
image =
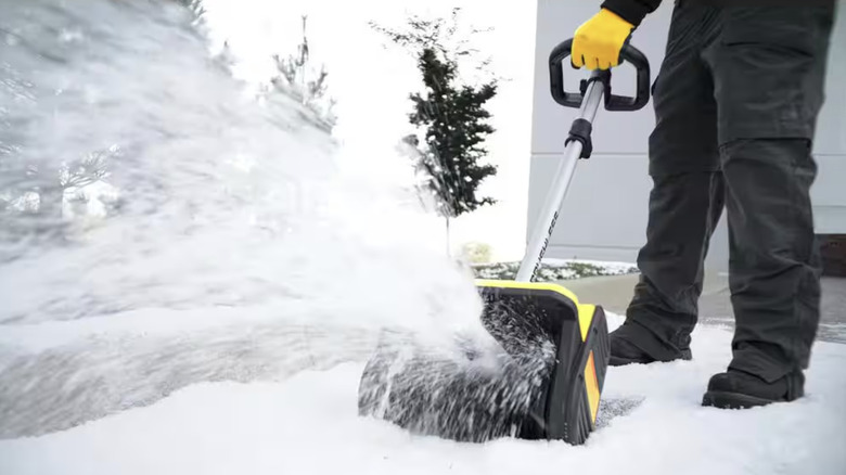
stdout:
{"type": "Polygon", "coordinates": [[[767,382],[808,364],[819,322],[819,257],[809,196],[816,165],[803,139],[722,149],[728,187],[731,368],[767,382]]]}

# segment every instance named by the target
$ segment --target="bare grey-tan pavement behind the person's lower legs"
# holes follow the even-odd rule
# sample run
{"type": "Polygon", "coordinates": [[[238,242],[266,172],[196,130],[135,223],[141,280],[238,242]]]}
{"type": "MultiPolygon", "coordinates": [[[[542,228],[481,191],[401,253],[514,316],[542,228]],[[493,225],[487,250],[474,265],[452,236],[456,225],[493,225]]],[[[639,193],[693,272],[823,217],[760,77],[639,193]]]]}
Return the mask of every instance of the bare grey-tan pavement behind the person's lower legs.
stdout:
{"type": "MultiPolygon", "coordinates": [[[[626,314],[638,274],[606,275],[562,281],[580,301],[602,305],[608,311],[626,314]]],[[[822,278],[822,301],[818,338],[846,344],[846,278],[822,278]]],[[[731,291],[726,274],[705,275],[700,298],[700,322],[719,326],[734,326],[731,291]]]]}

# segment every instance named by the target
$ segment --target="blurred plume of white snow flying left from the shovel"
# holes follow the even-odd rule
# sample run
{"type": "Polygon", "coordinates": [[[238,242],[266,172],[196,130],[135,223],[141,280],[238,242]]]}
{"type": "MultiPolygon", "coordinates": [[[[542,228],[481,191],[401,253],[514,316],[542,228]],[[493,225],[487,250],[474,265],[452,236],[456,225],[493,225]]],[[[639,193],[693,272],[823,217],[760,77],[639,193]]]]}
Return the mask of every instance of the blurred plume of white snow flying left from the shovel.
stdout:
{"type": "Polygon", "coordinates": [[[0,0],[0,436],[480,331],[410,181],[257,100],[191,3],[0,0]]]}

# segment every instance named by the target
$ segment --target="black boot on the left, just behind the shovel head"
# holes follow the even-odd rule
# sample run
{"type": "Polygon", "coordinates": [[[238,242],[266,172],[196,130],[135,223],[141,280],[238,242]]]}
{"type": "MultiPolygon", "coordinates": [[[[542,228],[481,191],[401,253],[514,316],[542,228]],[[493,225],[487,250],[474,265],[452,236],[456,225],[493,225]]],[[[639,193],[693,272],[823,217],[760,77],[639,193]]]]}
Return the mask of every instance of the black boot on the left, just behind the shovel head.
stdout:
{"type": "Polygon", "coordinates": [[[657,361],[690,360],[690,348],[669,348],[657,336],[632,321],[608,334],[612,367],[625,364],[649,364],[657,361]]]}

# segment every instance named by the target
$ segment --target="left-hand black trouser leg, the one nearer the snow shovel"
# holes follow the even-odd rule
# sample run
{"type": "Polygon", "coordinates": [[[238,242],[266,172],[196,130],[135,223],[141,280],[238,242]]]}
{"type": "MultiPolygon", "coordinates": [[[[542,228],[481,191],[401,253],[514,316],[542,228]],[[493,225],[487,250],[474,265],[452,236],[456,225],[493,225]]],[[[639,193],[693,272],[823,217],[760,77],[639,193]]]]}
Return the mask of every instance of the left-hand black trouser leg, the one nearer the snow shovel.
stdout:
{"type": "Polygon", "coordinates": [[[641,278],[626,324],[615,336],[656,360],[687,356],[703,260],[723,205],[714,87],[701,59],[716,20],[714,9],[676,8],[653,91],[646,244],[638,256],[641,278]]]}

